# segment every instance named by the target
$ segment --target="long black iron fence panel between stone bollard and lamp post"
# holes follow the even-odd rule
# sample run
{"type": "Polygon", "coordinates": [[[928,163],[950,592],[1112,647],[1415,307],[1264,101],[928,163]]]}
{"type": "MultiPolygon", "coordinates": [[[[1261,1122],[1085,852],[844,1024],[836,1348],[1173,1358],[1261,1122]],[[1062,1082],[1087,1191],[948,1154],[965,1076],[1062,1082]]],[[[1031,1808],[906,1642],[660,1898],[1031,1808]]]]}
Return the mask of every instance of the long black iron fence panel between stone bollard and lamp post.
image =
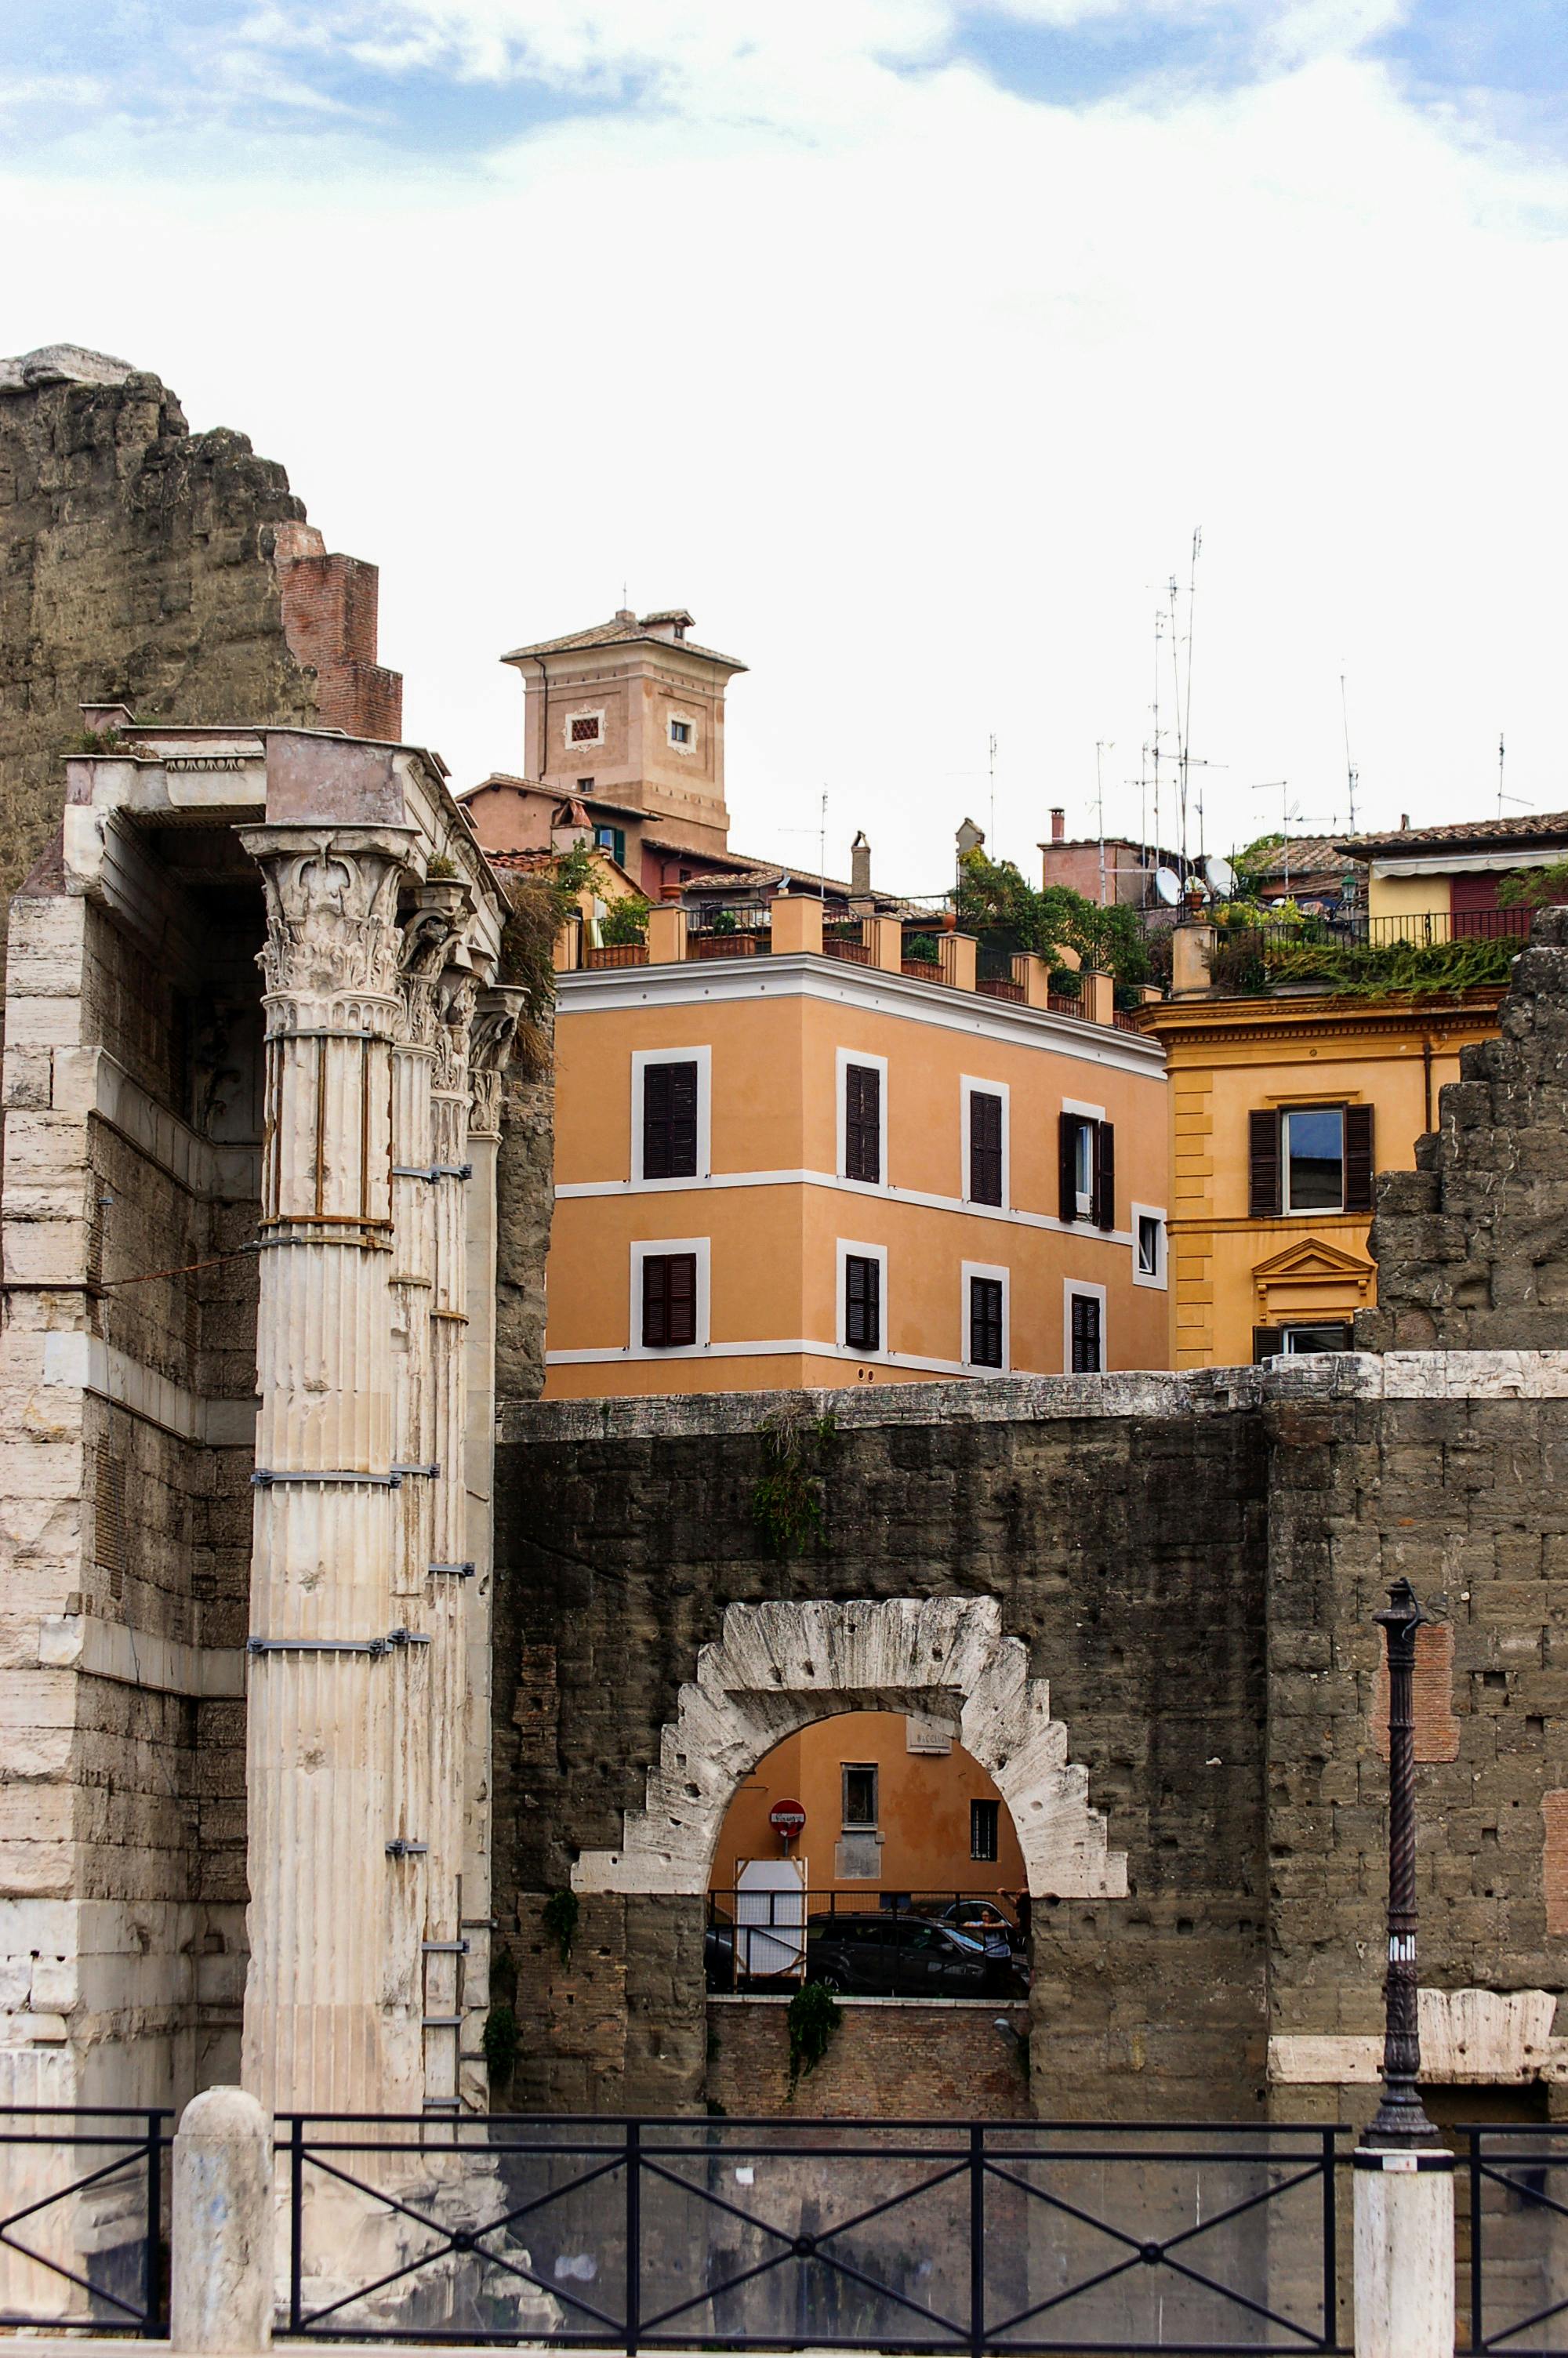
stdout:
{"type": "Polygon", "coordinates": [[[1337,2351],[1337,2129],[288,2117],[285,2330],[1337,2351]]]}

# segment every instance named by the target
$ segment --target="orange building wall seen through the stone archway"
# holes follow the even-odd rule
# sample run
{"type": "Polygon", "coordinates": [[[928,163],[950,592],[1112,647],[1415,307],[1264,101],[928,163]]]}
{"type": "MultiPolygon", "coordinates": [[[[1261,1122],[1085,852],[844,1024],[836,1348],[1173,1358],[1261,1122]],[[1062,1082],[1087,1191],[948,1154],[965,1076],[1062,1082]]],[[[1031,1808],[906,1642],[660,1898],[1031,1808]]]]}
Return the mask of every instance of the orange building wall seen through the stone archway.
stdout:
{"type": "Polygon", "coordinates": [[[842,1712],[785,1735],[729,1806],[710,1891],[747,1858],[778,1858],[776,1802],[806,1813],[790,1856],[816,1891],[1019,1893],[1028,1877],[1007,1802],[946,1728],[903,1712],[842,1712]]]}

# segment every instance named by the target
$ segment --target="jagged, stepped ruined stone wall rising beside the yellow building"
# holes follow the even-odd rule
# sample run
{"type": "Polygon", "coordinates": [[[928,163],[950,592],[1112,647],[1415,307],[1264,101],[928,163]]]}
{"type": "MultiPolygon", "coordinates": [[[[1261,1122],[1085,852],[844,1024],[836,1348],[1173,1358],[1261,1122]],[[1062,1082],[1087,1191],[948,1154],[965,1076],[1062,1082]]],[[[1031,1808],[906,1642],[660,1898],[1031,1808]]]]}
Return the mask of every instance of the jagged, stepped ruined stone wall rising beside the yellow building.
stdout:
{"type": "Polygon", "coordinates": [[[1363,1351],[1568,1346],[1568,910],[1535,917],[1497,1012],[1460,1054],[1412,1172],[1384,1172],[1363,1351]]]}

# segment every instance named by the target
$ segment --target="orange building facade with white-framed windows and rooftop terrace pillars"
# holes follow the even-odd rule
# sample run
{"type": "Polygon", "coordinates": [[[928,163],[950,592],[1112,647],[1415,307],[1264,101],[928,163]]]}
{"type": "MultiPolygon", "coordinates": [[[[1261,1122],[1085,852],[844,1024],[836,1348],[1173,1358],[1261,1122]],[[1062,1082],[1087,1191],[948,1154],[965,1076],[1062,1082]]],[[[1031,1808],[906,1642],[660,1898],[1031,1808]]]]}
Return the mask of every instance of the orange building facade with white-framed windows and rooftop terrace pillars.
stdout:
{"type": "Polygon", "coordinates": [[[547,1396],[1162,1365],[1165,1068],[1108,976],[1087,1021],[1033,957],[762,915],[556,979],[547,1396]]]}

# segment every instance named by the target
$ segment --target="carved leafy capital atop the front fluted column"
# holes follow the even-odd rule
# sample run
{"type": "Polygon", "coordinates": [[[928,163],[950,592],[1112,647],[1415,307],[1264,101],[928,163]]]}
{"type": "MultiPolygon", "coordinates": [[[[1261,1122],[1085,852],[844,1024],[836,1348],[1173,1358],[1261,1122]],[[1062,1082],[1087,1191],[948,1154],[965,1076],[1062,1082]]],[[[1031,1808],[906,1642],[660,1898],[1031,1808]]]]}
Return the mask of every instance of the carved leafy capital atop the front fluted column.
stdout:
{"type": "Polygon", "coordinates": [[[262,870],[259,953],[269,1033],[358,1030],[398,1021],[396,901],[410,828],[245,828],[262,870]]]}

